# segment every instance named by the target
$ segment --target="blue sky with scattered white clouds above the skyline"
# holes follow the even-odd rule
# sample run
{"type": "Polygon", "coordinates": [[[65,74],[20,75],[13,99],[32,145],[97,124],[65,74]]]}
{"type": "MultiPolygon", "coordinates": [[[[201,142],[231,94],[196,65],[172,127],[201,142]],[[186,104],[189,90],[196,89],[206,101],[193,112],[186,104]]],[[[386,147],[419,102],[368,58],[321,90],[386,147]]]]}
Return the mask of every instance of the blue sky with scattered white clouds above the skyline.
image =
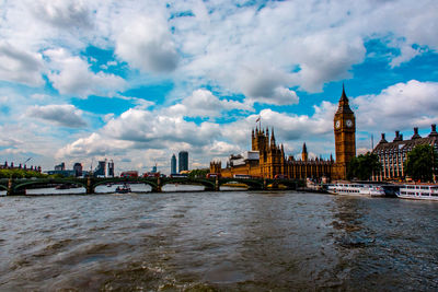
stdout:
{"type": "Polygon", "coordinates": [[[357,152],[438,124],[438,1],[0,0],[0,163],[170,173],[251,150],[334,154],[343,83],[357,152]]]}

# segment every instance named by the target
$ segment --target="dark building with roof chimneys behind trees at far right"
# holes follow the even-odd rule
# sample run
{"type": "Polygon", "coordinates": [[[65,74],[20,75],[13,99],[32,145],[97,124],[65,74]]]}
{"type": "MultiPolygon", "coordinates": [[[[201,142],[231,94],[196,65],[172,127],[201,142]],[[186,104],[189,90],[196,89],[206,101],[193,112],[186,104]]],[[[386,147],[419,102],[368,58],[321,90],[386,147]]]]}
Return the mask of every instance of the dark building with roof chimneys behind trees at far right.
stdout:
{"type": "Polygon", "coordinates": [[[403,140],[403,135],[400,131],[395,131],[395,138],[392,142],[388,142],[384,133],[382,139],[372,150],[372,153],[379,156],[379,161],[382,164],[380,173],[374,174],[376,180],[384,179],[403,179],[404,174],[404,162],[407,159],[407,153],[411,152],[416,145],[428,144],[438,151],[438,132],[436,125],[431,125],[431,131],[427,137],[420,137],[418,135],[418,128],[414,128],[414,135],[411,140],[403,140]]]}

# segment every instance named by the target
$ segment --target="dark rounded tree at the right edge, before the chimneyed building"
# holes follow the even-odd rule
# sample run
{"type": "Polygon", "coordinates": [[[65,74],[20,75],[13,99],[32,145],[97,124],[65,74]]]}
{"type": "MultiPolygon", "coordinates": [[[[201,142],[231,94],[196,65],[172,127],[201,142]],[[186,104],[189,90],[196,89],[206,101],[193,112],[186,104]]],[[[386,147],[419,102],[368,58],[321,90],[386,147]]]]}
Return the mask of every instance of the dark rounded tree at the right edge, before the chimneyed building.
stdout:
{"type": "Polygon", "coordinates": [[[438,153],[431,145],[416,145],[407,153],[403,166],[404,173],[414,180],[430,182],[437,171],[438,153]]]}

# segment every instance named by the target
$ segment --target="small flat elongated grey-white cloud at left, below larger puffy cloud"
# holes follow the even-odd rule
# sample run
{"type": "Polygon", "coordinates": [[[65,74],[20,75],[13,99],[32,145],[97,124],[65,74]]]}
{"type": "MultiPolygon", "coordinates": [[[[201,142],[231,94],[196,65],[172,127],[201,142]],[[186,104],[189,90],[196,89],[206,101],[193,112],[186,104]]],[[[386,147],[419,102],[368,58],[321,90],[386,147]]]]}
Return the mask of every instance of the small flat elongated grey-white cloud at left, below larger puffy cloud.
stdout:
{"type": "Polygon", "coordinates": [[[33,106],[27,109],[27,116],[47,120],[58,126],[69,128],[85,127],[87,122],[81,117],[82,112],[73,105],[45,105],[33,106]]]}

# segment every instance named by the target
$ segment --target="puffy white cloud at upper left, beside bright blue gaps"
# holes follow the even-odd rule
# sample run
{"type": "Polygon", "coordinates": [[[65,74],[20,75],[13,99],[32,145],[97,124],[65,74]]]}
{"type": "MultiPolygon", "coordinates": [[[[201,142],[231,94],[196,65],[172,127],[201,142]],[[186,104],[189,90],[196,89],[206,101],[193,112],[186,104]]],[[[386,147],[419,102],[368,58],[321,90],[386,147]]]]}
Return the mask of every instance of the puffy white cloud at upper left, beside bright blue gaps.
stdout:
{"type": "Polygon", "coordinates": [[[48,78],[61,94],[111,96],[126,85],[125,80],[117,75],[93,73],[85,60],[70,56],[65,49],[46,50],[44,54],[50,58],[51,72],[48,78]]]}

